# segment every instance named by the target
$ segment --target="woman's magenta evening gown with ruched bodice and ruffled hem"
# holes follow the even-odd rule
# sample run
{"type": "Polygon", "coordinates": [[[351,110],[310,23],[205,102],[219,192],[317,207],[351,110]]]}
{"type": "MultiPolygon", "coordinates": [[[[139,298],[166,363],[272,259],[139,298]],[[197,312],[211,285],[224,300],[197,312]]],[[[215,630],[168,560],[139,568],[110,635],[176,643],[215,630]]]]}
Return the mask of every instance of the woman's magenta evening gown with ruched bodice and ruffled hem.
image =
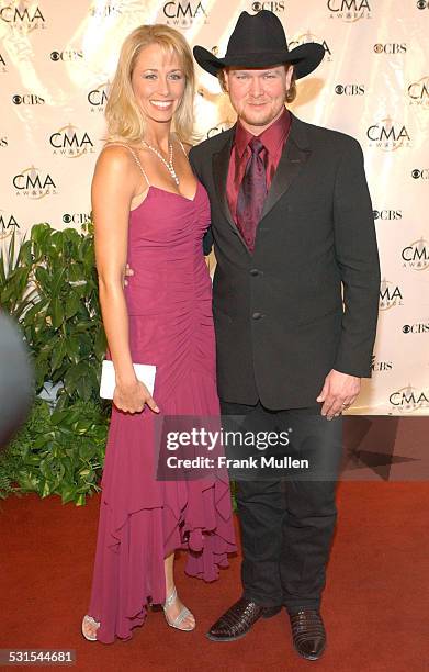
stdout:
{"type": "MultiPolygon", "coordinates": [[[[146,177],[146,176],[145,176],[146,177]]],[[[146,178],[147,179],[147,178],[146,178]]],[[[210,203],[149,187],[129,215],[125,298],[133,361],[157,366],[160,414],[218,416],[212,283],[202,238],[210,203]]],[[[109,357],[109,352],[108,352],[109,357]]],[[[154,478],[155,415],[112,406],[88,614],[97,639],[129,639],[149,603],[166,600],[163,559],[188,553],[185,572],[218,578],[236,550],[227,474],[194,481],[154,478]]]]}

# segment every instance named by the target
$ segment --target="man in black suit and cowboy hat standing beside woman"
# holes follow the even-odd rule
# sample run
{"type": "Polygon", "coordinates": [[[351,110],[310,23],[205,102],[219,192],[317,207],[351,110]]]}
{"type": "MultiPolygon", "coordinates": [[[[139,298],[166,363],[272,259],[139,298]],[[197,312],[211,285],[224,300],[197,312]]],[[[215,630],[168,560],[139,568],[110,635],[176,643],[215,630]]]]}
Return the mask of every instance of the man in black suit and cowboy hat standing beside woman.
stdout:
{"type": "MultiPolygon", "coordinates": [[[[316,427],[319,453],[330,451],[335,461],[341,411],[354,402],[360,378],[371,376],[377,316],[379,256],[362,150],[352,137],[285,109],[294,79],[319,65],[324,48],[290,52],[272,12],[242,12],[225,58],[201,46],[194,56],[219,77],[238,116],[190,153],[212,205],[223,413],[244,415],[248,426],[304,418],[316,427]]],[[[244,593],[210,639],[242,637],[284,605],[297,652],[321,656],[335,485],[335,479],[238,482],[244,593]]]]}

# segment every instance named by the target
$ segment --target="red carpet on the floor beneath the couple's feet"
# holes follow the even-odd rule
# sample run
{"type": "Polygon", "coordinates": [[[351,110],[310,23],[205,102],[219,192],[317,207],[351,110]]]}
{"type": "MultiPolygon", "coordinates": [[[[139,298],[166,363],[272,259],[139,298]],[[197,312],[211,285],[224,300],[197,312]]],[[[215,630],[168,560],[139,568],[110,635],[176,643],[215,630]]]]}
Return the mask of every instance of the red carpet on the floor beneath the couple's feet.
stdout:
{"type": "Polygon", "coordinates": [[[36,495],[0,504],[5,551],[0,648],[76,649],[74,669],[89,671],[428,669],[427,482],[339,484],[338,526],[323,600],[328,648],[317,662],[294,652],[285,612],[259,621],[236,642],[205,638],[210,625],[240,594],[239,557],[212,584],[185,576],[183,557],[178,560],[177,585],[197,618],[194,632],[173,630],[162,613],[151,613],[131,641],[106,646],[83,640],[80,621],[89,598],[98,507],[98,496],[81,508],[36,495]]]}

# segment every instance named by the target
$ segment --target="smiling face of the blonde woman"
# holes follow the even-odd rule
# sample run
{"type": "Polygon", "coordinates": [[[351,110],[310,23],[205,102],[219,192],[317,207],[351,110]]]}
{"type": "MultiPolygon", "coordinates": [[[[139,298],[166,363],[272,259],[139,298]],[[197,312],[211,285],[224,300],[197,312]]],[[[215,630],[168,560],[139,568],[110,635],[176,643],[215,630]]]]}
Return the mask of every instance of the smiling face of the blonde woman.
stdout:
{"type": "Polygon", "coordinates": [[[132,87],[146,117],[171,122],[185,87],[179,57],[157,43],[144,47],[132,75],[132,87]]]}

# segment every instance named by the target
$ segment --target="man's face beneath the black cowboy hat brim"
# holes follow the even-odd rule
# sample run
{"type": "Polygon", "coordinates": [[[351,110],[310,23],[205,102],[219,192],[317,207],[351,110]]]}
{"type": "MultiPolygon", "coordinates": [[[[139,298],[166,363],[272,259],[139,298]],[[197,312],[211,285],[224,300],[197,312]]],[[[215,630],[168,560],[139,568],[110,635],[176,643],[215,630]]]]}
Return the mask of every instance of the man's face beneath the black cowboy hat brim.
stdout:
{"type": "Polygon", "coordinates": [[[280,116],[291,86],[293,68],[227,68],[225,88],[241,123],[255,134],[262,133],[280,116]]]}

